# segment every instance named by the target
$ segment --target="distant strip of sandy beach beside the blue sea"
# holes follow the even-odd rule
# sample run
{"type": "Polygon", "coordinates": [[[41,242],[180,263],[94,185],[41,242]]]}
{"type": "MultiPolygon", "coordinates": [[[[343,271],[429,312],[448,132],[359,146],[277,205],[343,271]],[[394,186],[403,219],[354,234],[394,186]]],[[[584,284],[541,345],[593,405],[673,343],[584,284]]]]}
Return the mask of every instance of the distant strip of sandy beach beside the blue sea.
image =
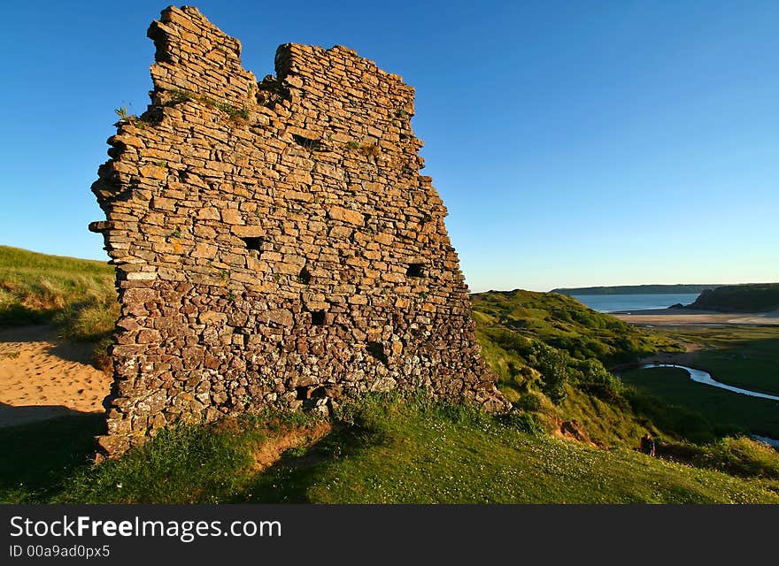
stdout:
{"type": "Polygon", "coordinates": [[[723,313],[713,310],[655,309],[609,313],[635,325],[779,325],[779,312],[723,313]]]}

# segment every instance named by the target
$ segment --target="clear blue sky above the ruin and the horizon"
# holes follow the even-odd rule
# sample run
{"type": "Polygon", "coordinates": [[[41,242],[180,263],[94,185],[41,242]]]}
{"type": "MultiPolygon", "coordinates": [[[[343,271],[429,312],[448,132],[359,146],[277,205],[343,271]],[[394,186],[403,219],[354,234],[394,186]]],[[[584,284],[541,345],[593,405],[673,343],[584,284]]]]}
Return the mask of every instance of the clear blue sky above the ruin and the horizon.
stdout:
{"type": "MultiPolygon", "coordinates": [[[[4,5],[0,243],[106,257],[89,186],[166,5],[4,5]]],[[[258,78],[343,44],[417,89],[473,290],[779,280],[776,0],[193,5],[258,78]]]]}

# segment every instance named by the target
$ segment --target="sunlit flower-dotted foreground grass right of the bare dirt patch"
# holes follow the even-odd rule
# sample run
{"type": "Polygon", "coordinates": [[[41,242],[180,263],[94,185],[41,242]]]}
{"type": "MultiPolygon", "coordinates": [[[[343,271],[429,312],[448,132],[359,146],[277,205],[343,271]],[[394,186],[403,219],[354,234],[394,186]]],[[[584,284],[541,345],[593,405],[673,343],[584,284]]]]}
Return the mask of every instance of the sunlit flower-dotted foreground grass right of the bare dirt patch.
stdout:
{"type": "Polygon", "coordinates": [[[263,478],[258,501],[267,501],[266,480],[289,479],[298,501],[327,503],[779,501],[773,483],[531,436],[467,409],[374,403],[366,402],[351,454],[263,478]]]}

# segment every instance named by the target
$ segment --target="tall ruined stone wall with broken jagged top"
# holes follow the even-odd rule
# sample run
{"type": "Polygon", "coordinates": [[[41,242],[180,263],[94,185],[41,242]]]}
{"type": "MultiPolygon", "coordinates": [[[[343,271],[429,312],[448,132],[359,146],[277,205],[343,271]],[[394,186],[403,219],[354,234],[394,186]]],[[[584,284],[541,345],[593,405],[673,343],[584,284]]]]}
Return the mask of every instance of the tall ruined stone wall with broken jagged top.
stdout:
{"type": "Polygon", "coordinates": [[[121,305],[101,447],[394,388],[508,409],[420,175],[413,88],[297,44],[258,83],[192,7],[148,34],[151,104],[120,120],[92,187],[121,305]]]}

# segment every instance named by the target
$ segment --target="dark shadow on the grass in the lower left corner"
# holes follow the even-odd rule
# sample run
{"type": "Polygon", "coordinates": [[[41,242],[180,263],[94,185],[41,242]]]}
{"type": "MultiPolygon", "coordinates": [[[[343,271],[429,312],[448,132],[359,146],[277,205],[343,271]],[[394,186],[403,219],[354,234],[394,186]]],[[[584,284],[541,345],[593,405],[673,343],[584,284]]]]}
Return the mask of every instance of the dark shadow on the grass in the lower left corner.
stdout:
{"type": "Polygon", "coordinates": [[[91,462],[94,437],[104,428],[102,413],[0,428],[0,502],[47,501],[73,470],[91,462]]]}

